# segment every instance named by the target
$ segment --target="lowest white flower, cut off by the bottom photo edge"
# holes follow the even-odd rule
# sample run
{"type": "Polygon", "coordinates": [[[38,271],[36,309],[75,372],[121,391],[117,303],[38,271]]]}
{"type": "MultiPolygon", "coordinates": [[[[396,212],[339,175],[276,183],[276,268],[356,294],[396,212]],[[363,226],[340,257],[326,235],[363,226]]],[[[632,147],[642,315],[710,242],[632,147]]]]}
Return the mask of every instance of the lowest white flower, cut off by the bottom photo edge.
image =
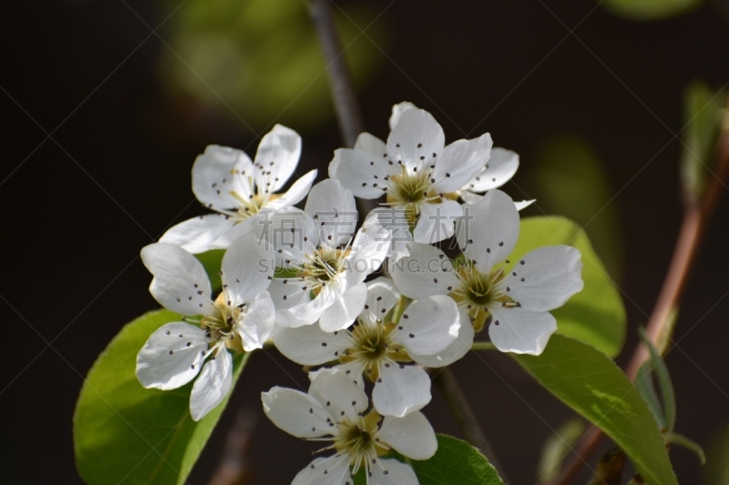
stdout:
{"type": "Polygon", "coordinates": [[[308,394],[280,387],[262,393],[263,411],[277,427],[302,440],[332,443],[318,452],[334,450],[334,455],[313,460],[292,485],[354,485],[363,468],[369,485],[417,485],[409,465],[381,457],[390,450],[411,460],[435,455],[436,433],[426,417],[367,412],[364,389],[343,372],[323,369],[310,377],[308,394]]]}

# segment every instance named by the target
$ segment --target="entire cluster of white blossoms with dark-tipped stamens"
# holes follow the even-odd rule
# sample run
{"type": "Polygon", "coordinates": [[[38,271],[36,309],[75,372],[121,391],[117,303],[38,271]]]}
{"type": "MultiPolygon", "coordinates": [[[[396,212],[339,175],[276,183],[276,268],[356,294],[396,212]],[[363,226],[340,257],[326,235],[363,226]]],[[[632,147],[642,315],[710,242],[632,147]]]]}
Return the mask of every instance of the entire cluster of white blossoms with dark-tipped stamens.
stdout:
{"type": "Polygon", "coordinates": [[[394,106],[390,127],[386,143],[363,133],[354,149],[334,152],[329,179],[312,187],[313,170],[284,194],[276,191],[301,154],[291,129],[275,126],[253,162],[208,147],[192,187],[219,214],[182,222],[142,250],[151,294],[185,316],[139,351],[144,387],[176,389],[200,374],[190,394],[198,420],[231,389],[231,353],[272,342],[318,368],[308,394],[262,394],[279,428],[332,442],[323,450],[334,454],[313,460],[294,484],[351,484],[360,469],[375,485],[417,484],[408,465],[386,455],[426,460],[436,452],[420,412],[431,399],[426,368],[463,357],[484,328],[502,351],[539,355],[557,329],[549,310],[582,288],[574,248],[507,260],[518,210],[531,202],[497,188],[516,172],[516,154],[492,148],[488,134],[446,146],[433,116],[410,103],[394,106]],[[294,207],[307,195],[303,210],[294,207]],[[358,230],[354,197],[385,197],[358,230]],[[433,246],[447,239],[460,258],[433,246]],[[214,299],[190,254],[211,248],[226,249],[214,299]],[[378,272],[386,276],[372,278],[378,272]]]}

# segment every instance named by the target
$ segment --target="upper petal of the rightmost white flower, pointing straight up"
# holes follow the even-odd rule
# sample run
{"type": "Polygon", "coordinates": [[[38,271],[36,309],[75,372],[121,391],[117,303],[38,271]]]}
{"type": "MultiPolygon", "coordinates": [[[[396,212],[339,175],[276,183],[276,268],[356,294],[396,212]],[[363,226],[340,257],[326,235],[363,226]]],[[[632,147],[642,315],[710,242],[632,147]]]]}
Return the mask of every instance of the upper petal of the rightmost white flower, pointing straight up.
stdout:
{"type": "Polygon", "coordinates": [[[511,197],[498,189],[489,190],[477,204],[463,206],[457,221],[458,245],[466,257],[488,273],[507,258],[519,239],[519,211],[511,197]]]}

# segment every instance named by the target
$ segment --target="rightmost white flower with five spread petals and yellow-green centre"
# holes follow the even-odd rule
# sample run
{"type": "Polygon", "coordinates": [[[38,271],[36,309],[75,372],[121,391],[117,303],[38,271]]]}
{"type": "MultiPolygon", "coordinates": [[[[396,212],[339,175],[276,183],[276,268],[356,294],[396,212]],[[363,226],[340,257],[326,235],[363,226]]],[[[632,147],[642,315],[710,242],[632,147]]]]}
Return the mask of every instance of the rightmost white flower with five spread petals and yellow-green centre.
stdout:
{"type": "Polygon", "coordinates": [[[467,262],[458,268],[432,264],[447,261],[445,254],[416,245],[400,266],[390,267],[397,288],[410,298],[448,295],[457,302],[460,335],[441,358],[466,354],[474,332],[488,322],[488,335],[499,350],[539,355],[557,329],[549,310],[583,287],[580,251],[547,246],[505,261],[519,238],[519,212],[511,197],[492,189],[477,204],[464,207],[456,237],[467,262]]]}

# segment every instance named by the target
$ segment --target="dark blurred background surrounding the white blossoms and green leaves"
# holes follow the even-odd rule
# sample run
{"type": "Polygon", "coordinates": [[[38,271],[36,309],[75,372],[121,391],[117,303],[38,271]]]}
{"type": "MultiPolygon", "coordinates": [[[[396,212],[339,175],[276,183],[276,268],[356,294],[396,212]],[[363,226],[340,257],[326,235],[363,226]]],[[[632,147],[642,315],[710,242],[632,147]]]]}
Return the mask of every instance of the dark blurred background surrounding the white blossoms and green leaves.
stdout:
{"type": "MultiPolygon", "coordinates": [[[[391,106],[409,100],[436,116],[448,142],[488,131],[520,154],[504,189],[539,198],[524,216],[560,207],[545,183],[549,160],[590,176],[560,192],[590,179],[582,193],[604,200],[585,204],[611,200],[588,232],[628,309],[624,364],[681,221],[683,91],[694,79],[729,82],[727,19],[712,5],[652,22],[590,1],[337,5],[370,132],[385,138],[391,106]]],[[[2,24],[0,482],[77,483],[71,419],[83,377],[119,328],[157,308],[139,249],[205,212],[190,190],[196,155],[215,143],[252,156],[279,122],[303,135],[298,173],[318,167],[321,179],[341,142],[303,2],[12,2],[2,24]]],[[[729,422],[727,209],[724,197],[667,357],[676,430],[704,445],[729,422]]],[[[560,212],[582,224],[594,215],[560,212]]],[[[459,361],[457,376],[512,483],[535,483],[539,449],[570,412],[507,357],[481,356],[459,361]]],[[[308,448],[263,417],[259,395],[293,380],[306,378],[275,350],[256,355],[190,483],[210,479],[241,408],[259,418],[258,483],[292,480],[308,448]]],[[[458,435],[433,393],[426,415],[458,435]]],[[[682,483],[703,483],[693,454],[671,456],[682,483]]]]}

